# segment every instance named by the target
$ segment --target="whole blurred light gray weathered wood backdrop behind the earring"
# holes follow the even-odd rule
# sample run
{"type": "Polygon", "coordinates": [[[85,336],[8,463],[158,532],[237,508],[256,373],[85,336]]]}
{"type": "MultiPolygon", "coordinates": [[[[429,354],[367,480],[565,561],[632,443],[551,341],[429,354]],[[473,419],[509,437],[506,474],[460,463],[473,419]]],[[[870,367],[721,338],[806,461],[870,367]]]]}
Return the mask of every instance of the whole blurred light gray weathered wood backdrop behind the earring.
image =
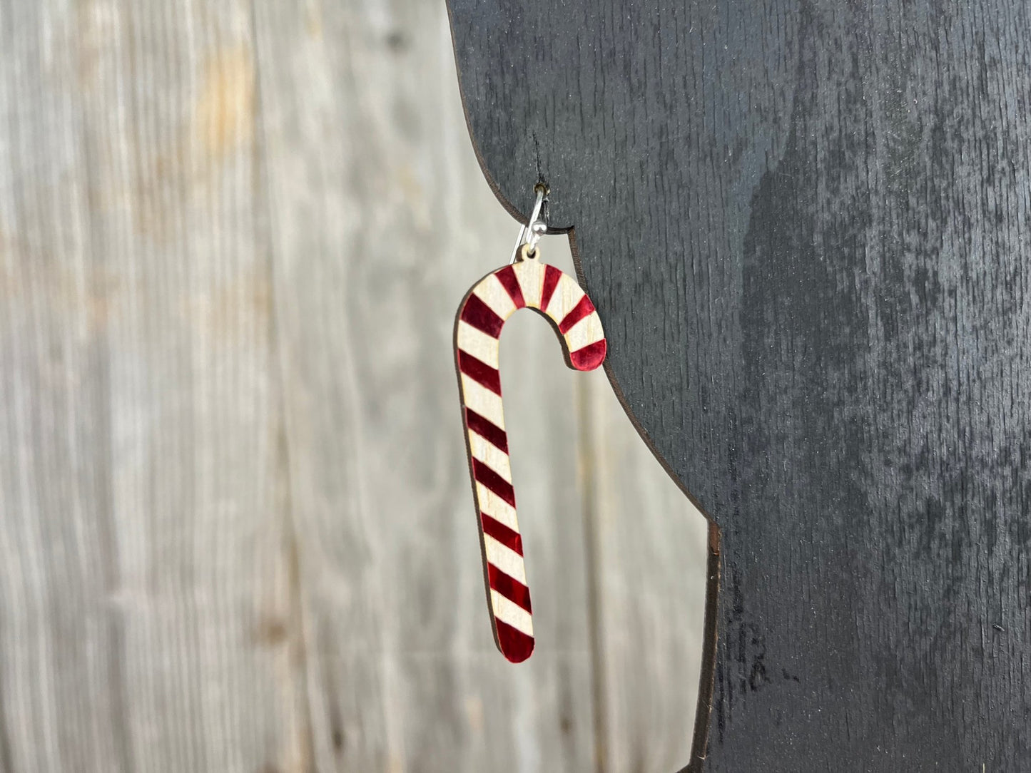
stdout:
{"type": "Polygon", "coordinates": [[[533,314],[491,638],[451,335],[514,232],[438,0],[0,0],[0,771],[686,763],[704,522],[533,314]]]}

